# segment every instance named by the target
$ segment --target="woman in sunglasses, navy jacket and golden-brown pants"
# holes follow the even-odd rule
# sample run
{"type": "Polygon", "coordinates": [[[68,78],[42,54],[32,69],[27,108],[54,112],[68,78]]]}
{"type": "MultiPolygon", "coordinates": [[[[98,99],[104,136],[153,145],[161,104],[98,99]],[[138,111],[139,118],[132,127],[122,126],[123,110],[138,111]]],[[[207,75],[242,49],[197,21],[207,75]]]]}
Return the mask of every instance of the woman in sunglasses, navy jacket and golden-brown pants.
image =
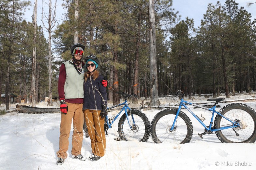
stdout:
{"type": "Polygon", "coordinates": [[[85,58],[87,72],[84,74],[83,85],[83,113],[91,138],[92,161],[99,160],[105,154],[106,137],[104,132],[104,119],[107,112],[106,87],[101,84],[103,76],[97,71],[98,59],[90,55],[85,58]]]}

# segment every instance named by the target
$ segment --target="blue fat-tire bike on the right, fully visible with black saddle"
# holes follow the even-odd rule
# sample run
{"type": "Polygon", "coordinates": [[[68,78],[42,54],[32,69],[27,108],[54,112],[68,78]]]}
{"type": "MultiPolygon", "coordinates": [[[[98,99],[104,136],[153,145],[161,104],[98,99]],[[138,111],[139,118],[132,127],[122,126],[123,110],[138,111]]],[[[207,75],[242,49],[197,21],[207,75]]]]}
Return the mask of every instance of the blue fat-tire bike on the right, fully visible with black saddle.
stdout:
{"type": "Polygon", "coordinates": [[[185,101],[184,94],[180,90],[175,96],[180,98],[179,108],[160,111],[151,122],[151,136],[155,143],[184,144],[190,142],[193,125],[189,117],[181,111],[182,107],[187,109],[205,128],[203,133],[198,133],[202,139],[203,135],[215,132],[222,143],[253,143],[256,141],[256,113],[251,107],[241,103],[232,103],[216,111],[216,104],[225,98],[207,99],[215,103],[212,108],[206,108],[185,101]],[[212,112],[209,126],[203,123],[205,119],[202,121],[186,105],[193,105],[212,112]]]}

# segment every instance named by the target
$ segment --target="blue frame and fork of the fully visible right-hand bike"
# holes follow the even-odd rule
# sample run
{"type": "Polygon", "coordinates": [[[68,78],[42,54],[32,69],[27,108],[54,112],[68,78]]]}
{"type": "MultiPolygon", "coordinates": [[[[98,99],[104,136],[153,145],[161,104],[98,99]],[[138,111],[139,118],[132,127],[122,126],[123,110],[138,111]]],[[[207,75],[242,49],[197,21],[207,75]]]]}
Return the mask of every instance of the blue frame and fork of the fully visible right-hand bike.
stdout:
{"type": "Polygon", "coordinates": [[[179,115],[179,112],[181,110],[181,108],[185,107],[189,113],[191,113],[195,118],[196,120],[203,125],[203,127],[207,130],[207,131],[211,131],[211,132],[214,132],[214,131],[219,131],[219,130],[224,130],[224,129],[229,129],[229,128],[234,128],[234,127],[237,127],[237,126],[240,126],[240,123],[239,122],[233,122],[231,121],[230,119],[226,118],[225,116],[223,116],[222,114],[220,114],[218,111],[216,111],[216,103],[214,104],[214,106],[212,108],[206,108],[206,107],[203,107],[203,106],[199,106],[197,104],[194,104],[194,103],[190,103],[188,101],[185,101],[183,98],[181,98],[180,100],[180,104],[179,104],[179,108],[178,108],[178,111],[176,113],[176,116],[174,118],[174,121],[173,121],[173,126],[172,128],[170,129],[170,131],[172,132],[174,127],[175,127],[175,123],[176,123],[176,120],[178,118],[178,115],[179,115]],[[193,106],[196,106],[196,107],[199,107],[199,108],[202,108],[204,110],[208,110],[208,111],[211,111],[212,112],[212,118],[211,118],[211,121],[210,121],[210,125],[209,125],[209,128],[203,123],[203,121],[201,119],[199,119],[199,117],[197,115],[195,115],[187,106],[186,104],[188,105],[193,105],[193,106]],[[223,126],[219,129],[212,129],[212,124],[213,124],[213,117],[214,117],[214,113],[217,113],[219,116],[223,117],[224,119],[228,120],[230,123],[232,123],[232,125],[229,125],[229,126],[223,126]]]}

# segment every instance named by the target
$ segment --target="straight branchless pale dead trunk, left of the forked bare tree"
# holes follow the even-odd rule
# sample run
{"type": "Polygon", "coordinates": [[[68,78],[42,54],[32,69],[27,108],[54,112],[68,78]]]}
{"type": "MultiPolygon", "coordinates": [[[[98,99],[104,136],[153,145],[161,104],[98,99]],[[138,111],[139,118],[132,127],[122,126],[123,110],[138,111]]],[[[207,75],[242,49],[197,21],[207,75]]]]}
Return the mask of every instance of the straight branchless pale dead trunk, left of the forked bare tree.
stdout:
{"type": "Polygon", "coordinates": [[[32,57],[32,78],[31,78],[31,99],[32,107],[36,107],[36,40],[37,40],[37,0],[34,3],[33,15],[32,15],[34,33],[33,33],[33,57],[32,57]]]}

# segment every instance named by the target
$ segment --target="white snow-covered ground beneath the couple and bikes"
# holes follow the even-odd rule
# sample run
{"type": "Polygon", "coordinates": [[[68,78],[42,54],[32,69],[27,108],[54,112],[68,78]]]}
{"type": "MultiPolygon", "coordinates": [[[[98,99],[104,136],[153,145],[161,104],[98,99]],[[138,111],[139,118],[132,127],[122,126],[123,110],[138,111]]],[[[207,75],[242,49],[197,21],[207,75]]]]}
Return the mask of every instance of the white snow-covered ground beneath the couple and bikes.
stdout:
{"type": "MultiPolygon", "coordinates": [[[[241,95],[226,100],[252,98],[241,95]]],[[[169,97],[159,98],[161,105],[168,106],[169,97]]],[[[194,97],[191,102],[206,102],[206,98],[194,97]]],[[[237,102],[237,101],[235,101],[237,102]]],[[[242,102],[256,110],[255,102],[242,102]]],[[[54,107],[58,107],[54,103],[54,107]]],[[[37,107],[47,107],[45,102],[37,107]]],[[[227,103],[220,103],[221,107],[227,103]]],[[[5,106],[2,104],[0,110],[5,106]]],[[[11,105],[15,108],[15,104],[11,105]]],[[[220,108],[218,108],[220,109],[220,108]]],[[[149,121],[160,110],[142,110],[149,121]]],[[[206,118],[208,124],[211,114],[202,109],[192,109],[198,116],[206,118]]],[[[109,114],[116,114],[117,111],[109,114]]],[[[79,161],[71,157],[71,128],[68,158],[63,165],[56,165],[56,152],[59,150],[60,113],[23,114],[18,112],[0,116],[0,169],[256,169],[256,144],[224,144],[213,133],[201,139],[197,134],[204,128],[188,111],[183,110],[193,124],[193,137],[190,143],[155,144],[151,137],[148,142],[116,141],[118,120],[109,129],[106,154],[99,161],[79,161]]],[[[119,116],[120,118],[120,116],[119,116]]],[[[83,139],[82,154],[91,155],[90,139],[83,139]]]]}

